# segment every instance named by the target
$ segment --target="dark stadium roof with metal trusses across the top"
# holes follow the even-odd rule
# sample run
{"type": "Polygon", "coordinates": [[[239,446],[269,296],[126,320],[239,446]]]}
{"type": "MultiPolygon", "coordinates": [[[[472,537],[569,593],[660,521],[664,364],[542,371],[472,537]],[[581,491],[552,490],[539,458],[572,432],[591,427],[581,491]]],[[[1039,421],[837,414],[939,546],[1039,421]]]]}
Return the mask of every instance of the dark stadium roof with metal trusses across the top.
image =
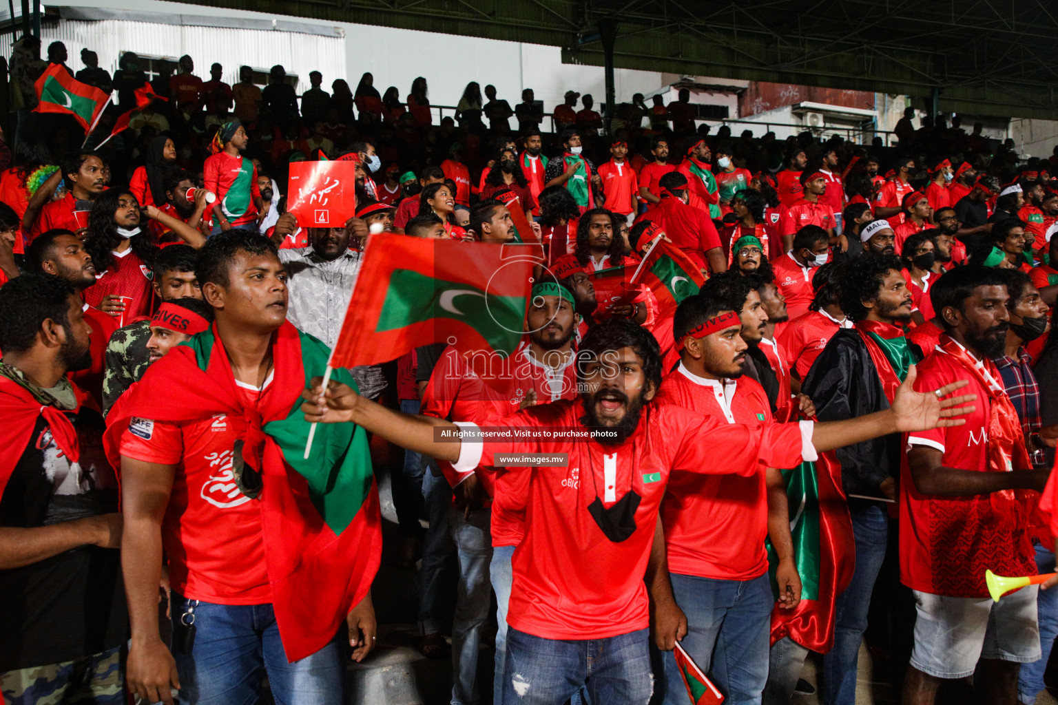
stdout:
{"type": "MultiPolygon", "coordinates": [[[[187,0],[189,1],[189,0],[187,0]]],[[[1058,11],[1040,0],[214,0],[317,20],[561,47],[618,68],[929,98],[943,111],[1058,119],[1058,11]]]]}

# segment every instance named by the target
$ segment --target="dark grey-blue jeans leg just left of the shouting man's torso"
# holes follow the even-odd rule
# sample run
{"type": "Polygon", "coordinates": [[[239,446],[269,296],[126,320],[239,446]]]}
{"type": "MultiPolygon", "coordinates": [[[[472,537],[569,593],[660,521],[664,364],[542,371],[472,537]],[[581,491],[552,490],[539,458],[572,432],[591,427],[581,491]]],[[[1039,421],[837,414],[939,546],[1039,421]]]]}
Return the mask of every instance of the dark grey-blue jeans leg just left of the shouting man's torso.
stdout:
{"type": "Polygon", "coordinates": [[[492,561],[492,509],[484,507],[463,519],[462,511],[449,511],[449,526],[459,559],[456,611],[452,618],[452,705],[477,703],[477,657],[481,630],[489,620],[489,563],[492,561]]]}

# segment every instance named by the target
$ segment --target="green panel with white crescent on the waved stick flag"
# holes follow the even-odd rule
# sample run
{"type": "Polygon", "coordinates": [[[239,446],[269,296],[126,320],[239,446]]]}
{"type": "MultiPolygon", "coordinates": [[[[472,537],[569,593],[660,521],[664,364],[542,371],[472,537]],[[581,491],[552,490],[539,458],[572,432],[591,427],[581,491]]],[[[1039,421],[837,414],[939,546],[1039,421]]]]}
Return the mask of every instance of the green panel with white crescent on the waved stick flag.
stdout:
{"type": "Polygon", "coordinates": [[[473,328],[493,350],[510,354],[522,339],[525,312],[522,296],[497,296],[473,284],[435,279],[414,270],[394,270],[376,331],[449,318],[473,328]]]}

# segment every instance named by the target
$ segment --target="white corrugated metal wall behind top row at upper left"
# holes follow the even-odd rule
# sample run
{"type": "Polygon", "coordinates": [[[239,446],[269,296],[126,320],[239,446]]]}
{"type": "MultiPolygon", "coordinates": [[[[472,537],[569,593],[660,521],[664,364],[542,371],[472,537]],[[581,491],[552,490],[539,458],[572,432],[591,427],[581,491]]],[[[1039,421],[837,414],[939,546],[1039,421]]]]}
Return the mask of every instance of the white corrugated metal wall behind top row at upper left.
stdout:
{"type": "Polygon", "coordinates": [[[66,44],[70,53],[67,63],[74,72],[84,68],[80,50],[88,48],[98,54],[99,66],[111,73],[117,69],[117,57],[122,53],[135,52],[174,60],[187,54],[195,60],[195,74],[203,80],[209,80],[209,66],[219,61],[224,67],[223,80],[229,84],[238,81],[240,66],[268,71],[281,63],[288,73],[297,74],[298,94],[310,88],[310,71],[324,74],[324,90],[328,92],[330,81],[346,78],[345,38],[340,36],[112,19],[62,19],[57,26],[41,27],[43,48],[53,41],[66,44]]]}

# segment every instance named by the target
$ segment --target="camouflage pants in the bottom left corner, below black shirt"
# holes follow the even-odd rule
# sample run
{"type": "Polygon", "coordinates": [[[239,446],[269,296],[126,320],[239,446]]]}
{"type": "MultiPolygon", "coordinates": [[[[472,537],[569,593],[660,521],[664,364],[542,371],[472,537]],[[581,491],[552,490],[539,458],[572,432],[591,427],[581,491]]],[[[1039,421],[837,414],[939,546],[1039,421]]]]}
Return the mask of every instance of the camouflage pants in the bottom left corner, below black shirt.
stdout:
{"type": "Polygon", "coordinates": [[[123,648],[0,672],[0,691],[7,705],[125,705],[123,648]]]}

